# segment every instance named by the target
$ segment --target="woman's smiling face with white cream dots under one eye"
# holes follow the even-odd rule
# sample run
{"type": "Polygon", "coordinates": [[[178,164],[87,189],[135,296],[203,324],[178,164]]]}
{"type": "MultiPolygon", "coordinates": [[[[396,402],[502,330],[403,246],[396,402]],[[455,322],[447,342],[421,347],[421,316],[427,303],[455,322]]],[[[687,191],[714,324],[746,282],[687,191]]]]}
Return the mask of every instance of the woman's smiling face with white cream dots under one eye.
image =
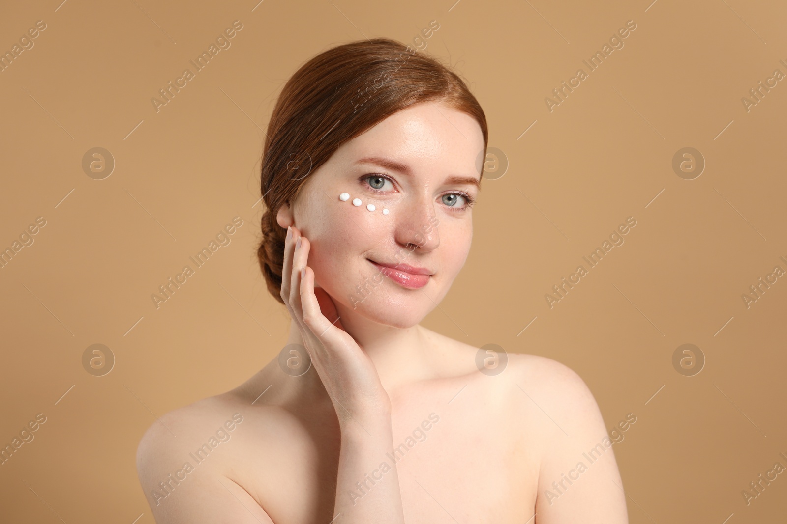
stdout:
{"type": "Polygon", "coordinates": [[[345,142],[279,210],[311,242],[308,266],[339,316],[406,328],[443,299],[470,251],[483,146],[471,115],[415,104],[345,142]]]}

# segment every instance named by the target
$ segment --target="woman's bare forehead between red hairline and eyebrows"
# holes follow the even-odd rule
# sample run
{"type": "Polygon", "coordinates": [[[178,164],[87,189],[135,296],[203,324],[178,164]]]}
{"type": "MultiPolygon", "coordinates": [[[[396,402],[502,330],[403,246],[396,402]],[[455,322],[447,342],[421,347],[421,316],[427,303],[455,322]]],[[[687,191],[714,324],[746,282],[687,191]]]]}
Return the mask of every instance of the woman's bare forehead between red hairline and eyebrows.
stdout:
{"type": "Polygon", "coordinates": [[[346,142],[336,155],[346,163],[375,156],[416,168],[439,162],[446,169],[473,174],[483,146],[475,118],[441,102],[427,101],[390,115],[346,142]]]}

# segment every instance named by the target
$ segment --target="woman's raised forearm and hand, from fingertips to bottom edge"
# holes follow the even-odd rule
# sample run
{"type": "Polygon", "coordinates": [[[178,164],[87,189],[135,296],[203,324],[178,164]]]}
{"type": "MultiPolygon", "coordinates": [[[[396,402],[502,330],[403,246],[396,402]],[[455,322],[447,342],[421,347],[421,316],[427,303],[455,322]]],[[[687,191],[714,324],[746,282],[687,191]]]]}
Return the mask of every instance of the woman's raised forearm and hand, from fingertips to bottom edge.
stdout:
{"type": "Polygon", "coordinates": [[[345,332],[336,306],[306,266],[312,244],[295,226],[284,247],[282,299],[333,401],[341,431],[336,524],[404,524],[393,456],[390,398],[374,363],[345,332]],[[355,493],[355,496],[353,496],[355,493]]]}

